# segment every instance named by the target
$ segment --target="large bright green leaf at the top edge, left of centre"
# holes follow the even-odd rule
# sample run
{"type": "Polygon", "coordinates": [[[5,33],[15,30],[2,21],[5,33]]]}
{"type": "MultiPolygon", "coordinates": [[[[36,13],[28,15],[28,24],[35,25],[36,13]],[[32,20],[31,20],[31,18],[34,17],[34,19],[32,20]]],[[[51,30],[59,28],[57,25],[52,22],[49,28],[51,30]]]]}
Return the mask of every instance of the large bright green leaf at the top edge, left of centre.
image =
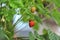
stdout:
{"type": "Polygon", "coordinates": [[[12,8],[20,8],[20,7],[22,8],[22,7],[24,7],[22,0],[10,0],[9,5],[12,8]]]}

